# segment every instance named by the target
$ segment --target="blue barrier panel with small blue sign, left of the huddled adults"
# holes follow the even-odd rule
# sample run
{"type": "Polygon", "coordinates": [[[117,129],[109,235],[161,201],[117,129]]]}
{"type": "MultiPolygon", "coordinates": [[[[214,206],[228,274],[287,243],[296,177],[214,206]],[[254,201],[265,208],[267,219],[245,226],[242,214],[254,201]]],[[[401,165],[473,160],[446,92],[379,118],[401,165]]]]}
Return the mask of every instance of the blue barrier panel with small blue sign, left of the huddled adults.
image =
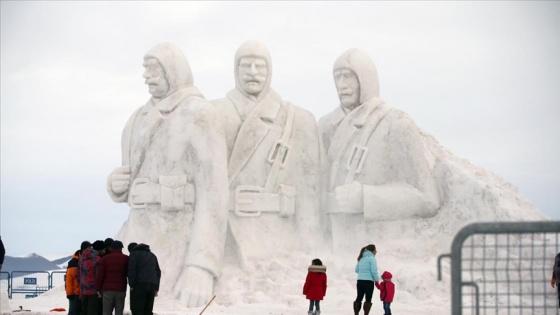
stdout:
{"type": "Polygon", "coordinates": [[[34,298],[49,290],[47,271],[12,271],[12,299],[34,298]]]}

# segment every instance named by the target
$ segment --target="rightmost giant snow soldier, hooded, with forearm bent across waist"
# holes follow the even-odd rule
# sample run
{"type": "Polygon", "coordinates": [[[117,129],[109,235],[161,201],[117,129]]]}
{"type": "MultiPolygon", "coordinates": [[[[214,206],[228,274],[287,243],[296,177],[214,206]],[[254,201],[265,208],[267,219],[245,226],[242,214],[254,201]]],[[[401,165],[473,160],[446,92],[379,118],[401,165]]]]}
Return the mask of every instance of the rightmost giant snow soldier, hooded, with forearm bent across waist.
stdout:
{"type": "Polygon", "coordinates": [[[327,163],[323,204],[334,249],[355,252],[375,239],[370,232],[381,221],[434,216],[440,197],[420,131],[379,98],[371,58],[350,49],[333,75],[340,106],[318,123],[327,163]]]}

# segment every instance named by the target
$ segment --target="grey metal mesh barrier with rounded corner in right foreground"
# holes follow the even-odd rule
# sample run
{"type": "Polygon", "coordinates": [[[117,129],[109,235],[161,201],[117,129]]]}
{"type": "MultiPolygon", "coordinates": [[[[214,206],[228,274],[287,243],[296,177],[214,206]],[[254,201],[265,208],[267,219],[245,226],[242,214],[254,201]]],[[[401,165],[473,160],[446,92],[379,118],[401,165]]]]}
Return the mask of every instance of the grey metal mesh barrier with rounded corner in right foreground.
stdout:
{"type": "Polygon", "coordinates": [[[463,314],[560,314],[550,279],[560,251],[560,222],[475,223],[461,229],[451,254],[451,311],[463,314]]]}

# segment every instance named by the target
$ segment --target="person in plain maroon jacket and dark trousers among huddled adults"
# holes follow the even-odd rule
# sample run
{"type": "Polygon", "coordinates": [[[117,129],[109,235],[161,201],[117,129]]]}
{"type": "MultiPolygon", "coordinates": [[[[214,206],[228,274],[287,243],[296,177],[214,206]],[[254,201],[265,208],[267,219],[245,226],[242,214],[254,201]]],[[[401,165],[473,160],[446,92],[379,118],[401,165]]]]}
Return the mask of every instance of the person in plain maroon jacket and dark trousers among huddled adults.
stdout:
{"type": "Polygon", "coordinates": [[[108,253],[99,263],[95,279],[97,295],[103,298],[103,315],[122,315],[126,298],[128,255],[122,253],[123,243],[113,241],[108,253]]]}

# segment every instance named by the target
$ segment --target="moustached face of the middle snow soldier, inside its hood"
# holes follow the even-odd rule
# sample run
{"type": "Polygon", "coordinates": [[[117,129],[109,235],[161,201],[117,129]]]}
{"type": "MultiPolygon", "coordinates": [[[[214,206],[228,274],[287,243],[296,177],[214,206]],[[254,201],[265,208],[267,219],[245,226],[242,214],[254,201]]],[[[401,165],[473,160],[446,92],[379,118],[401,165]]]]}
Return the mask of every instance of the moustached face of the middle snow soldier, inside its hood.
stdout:
{"type": "Polygon", "coordinates": [[[266,61],[258,57],[241,57],[238,74],[243,91],[256,96],[263,90],[268,76],[266,61]]]}

